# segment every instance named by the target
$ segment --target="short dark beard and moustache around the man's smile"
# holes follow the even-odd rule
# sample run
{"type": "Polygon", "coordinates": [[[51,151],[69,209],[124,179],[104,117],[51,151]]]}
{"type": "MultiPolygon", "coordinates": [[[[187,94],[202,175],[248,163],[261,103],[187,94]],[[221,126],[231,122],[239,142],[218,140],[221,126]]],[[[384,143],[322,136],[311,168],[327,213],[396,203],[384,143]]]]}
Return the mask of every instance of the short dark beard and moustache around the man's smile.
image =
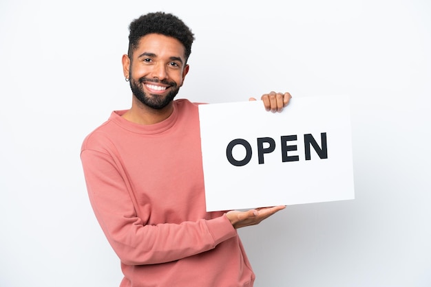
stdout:
{"type": "Polygon", "coordinates": [[[167,106],[170,102],[174,100],[175,96],[180,90],[180,87],[178,87],[176,82],[168,82],[167,80],[149,80],[145,77],[139,78],[138,80],[134,80],[134,78],[132,78],[132,75],[129,78],[130,89],[132,89],[132,93],[139,100],[139,102],[145,104],[145,106],[149,106],[150,108],[154,108],[156,110],[161,110],[162,108],[165,108],[165,106],[167,106]],[[148,95],[144,91],[144,82],[157,82],[160,84],[167,84],[171,87],[171,90],[165,97],[151,93],[148,95]]]}

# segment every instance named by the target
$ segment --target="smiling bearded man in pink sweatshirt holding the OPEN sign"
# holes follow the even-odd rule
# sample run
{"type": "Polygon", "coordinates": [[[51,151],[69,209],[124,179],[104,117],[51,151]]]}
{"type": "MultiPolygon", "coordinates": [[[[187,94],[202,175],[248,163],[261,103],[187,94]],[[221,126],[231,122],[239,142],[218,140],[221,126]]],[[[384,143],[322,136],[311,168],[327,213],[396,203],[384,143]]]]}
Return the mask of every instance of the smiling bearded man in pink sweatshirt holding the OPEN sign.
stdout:
{"type": "MultiPolygon", "coordinates": [[[[123,71],[132,107],[112,112],[81,150],[94,213],[120,257],[120,286],[253,286],[236,229],[284,206],[205,211],[198,105],[174,100],[194,35],[163,12],[140,16],[129,30],[123,71]]],[[[271,92],[262,102],[275,112],[290,98],[271,92]]]]}

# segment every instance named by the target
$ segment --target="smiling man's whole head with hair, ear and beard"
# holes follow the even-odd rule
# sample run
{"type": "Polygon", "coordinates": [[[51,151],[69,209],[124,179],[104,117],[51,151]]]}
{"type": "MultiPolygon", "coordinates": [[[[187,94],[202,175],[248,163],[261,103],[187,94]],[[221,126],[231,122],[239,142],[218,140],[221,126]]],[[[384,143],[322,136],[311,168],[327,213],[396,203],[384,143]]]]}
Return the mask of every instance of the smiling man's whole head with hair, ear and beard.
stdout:
{"type": "Polygon", "coordinates": [[[140,103],[161,110],[174,100],[189,71],[193,33],[177,16],[164,12],[140,16],[129,30],[125,77],[140,103]]]}

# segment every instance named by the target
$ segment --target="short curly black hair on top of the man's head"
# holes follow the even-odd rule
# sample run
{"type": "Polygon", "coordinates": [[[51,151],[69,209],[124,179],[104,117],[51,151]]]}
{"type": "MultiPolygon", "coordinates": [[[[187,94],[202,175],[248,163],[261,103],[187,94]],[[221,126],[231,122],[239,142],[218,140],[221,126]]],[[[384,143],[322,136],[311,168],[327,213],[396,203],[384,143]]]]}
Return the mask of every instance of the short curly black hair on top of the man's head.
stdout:
{"type": "Polygon", "coordinates": [[[195,40],[194,34],[177,16],[165,12],[151,12],[134,19],[129,25],[129,58],[138,47],[139,40],[147,34],[162,34],[176,38],[185,47],[185,60],[191,54],[191,44],[195,40]]]}

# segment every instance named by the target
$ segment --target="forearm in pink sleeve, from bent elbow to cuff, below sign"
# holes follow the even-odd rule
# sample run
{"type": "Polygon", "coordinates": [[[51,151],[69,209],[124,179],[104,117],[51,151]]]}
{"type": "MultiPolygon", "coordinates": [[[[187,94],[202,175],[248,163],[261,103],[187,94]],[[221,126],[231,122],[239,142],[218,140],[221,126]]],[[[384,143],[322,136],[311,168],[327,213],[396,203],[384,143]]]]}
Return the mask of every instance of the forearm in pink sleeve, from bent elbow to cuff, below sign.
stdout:
{"type": "MultiPolygon", "coordinates": [[[[139,221],[139,220],[136,220],[139,221]]],[[[213,220],[141,225],[123,222],[118,229],[103,227],[109,243],[128,265],[159,264],[209,251],[236,236],[224,216],[213,220]]]]}

